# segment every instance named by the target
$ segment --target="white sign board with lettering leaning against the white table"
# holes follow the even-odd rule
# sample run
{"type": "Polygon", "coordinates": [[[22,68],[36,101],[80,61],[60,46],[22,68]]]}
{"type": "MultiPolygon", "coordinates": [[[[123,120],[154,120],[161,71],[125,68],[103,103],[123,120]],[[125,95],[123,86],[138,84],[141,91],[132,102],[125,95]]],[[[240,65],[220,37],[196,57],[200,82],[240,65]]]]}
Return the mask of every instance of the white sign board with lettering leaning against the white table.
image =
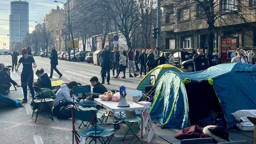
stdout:
{"type": "Polygon", "coordinates": [[[154,136],[154,129],[153,129],[152,121],[149,115],[149,111],[147,111],[147,108],[145,108],[145,110],[142,111],[142,119],[143,119],[143,124],[145,125],[147,142],[150,143],[150,141],[154,136]]]}

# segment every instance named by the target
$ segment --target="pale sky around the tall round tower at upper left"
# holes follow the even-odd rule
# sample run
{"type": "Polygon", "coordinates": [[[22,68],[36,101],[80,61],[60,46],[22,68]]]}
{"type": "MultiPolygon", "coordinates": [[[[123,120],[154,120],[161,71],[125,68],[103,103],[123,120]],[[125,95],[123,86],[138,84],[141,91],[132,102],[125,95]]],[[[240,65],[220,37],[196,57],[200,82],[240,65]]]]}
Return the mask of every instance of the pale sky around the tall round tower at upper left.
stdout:
{"type": "MultiPolygon", "coordinates": [[[[14,0],[0,0],[0,19],[9,20],[10,3],[14,0]]],[[[29,2],[29,26],[35,26],[35,21],[43,21],[43,16],[46,15],[52,8],[56,9],[57,5],[63,7],[61,3],[54,3],[54,0],[26,0],[29,2]]],[[[65,2],[66,0],[58,0],[65,2]]],[[[34,30],[29,27],[29,32],[34,30]]],[[[9,21],[0,20],[0,49],[9,48],[9,21]],[[6,43],[6,46],[3,45],[6,43]]]]}

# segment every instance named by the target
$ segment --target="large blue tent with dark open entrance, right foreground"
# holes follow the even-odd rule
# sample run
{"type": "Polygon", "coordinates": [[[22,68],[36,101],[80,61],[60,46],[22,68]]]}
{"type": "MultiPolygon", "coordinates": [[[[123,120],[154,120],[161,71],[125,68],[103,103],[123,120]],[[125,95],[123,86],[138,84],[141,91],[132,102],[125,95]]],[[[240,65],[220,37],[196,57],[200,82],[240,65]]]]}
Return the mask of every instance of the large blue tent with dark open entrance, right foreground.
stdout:
{"type": "Polygon", "coordinates": [[[256,108],[256,66],[225,63],[193,73],[167,71],[159,80],[150,116],[169,128],[186,128],[201,121],[208,110],[222,114],[226,126],[238,121],[237,110],[256,108]]]}

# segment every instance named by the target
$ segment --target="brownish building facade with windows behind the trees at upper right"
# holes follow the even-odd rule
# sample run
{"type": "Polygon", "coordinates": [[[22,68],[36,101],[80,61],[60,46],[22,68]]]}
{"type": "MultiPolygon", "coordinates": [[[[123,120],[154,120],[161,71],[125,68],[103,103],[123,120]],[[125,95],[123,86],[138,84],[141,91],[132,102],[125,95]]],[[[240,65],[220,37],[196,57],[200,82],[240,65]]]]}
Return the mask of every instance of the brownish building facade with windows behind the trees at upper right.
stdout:
{"type": "MultiPolygon", "coordinates": [[[[219,37],[238,37],[239,47],[256,57],[256,0],[243,0],[241,3],[236,1],[214,0],[218,4],[214,11],[222,13],[221,18],[214,23],[214,52],[218,52],[219,37]],[[249,21],[242,21],[235,12],[249,21]]],[[[209,32],[202,7],[195,3],[187,7],[175,7],[172,3],[166,5],[165,2],[166,0],[162,0],[162,49],[173,52],[182,48],[208,49],[209,32]]]]}

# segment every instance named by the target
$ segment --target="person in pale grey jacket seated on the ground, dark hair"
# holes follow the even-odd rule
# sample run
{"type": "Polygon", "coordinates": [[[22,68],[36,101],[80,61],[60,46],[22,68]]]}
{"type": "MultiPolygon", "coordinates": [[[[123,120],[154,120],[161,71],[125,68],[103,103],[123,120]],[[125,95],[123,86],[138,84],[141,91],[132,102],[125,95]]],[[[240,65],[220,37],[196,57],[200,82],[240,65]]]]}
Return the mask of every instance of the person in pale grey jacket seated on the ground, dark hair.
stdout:
{"type": "MultiPolygon", "coordinates": [[[[56,93],[56,99],[54,105],[56,105],[60,100],[66,100],[67,102],[73,102],[73,99],[70,96],[70,91],[73,90],[73,86],[78,86],[77,82],[71,81],[68,84],[64,83],[60,86],[60,89],[56,93]]],[[[77,102],[74,100],[74,102],[77,102]]]]}

